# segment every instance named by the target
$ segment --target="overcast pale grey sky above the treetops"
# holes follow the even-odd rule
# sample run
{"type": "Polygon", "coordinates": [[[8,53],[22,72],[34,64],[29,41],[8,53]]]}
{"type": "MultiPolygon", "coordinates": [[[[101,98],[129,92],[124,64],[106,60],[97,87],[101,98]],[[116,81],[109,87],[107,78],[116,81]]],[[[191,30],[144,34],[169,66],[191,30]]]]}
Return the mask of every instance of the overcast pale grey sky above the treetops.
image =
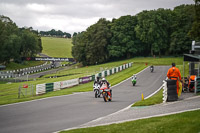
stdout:
{"type": "Polygon", "coordinates": [[[19,27],[85,31],[99,18],[112,20],[136,15],[142,10],[194,4],[193,0],[0,0],[0,15],[10,17],[19,27]]]}

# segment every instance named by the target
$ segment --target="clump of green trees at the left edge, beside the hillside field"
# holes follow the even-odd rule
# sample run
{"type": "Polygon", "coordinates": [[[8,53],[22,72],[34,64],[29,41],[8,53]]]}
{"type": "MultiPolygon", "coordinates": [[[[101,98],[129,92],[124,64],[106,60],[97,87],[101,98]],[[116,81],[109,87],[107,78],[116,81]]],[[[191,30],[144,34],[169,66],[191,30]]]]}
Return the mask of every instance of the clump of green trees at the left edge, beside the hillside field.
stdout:
{"type": "Polygon", "coordinates": [[[9,17],[0,15],[0,64],[20,62],[21,57],[41,51],[41,38],[32,28],[18,28],[9,17]]]}

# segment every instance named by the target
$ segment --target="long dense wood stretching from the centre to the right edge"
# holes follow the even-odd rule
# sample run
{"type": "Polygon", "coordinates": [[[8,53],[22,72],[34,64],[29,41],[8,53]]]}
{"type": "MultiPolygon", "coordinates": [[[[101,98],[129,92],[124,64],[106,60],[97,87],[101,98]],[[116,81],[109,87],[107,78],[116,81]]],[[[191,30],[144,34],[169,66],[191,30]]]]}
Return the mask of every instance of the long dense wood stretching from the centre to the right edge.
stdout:
{"type": "Polygon", "coordinates": [[[200,40],[197,9],[199,2],[173,10],[142,11],[112,21],[101,18],[73,37],[72,55],[83,65],[135,56],[183,55],[191,49],[192,40],[200,40]]]}

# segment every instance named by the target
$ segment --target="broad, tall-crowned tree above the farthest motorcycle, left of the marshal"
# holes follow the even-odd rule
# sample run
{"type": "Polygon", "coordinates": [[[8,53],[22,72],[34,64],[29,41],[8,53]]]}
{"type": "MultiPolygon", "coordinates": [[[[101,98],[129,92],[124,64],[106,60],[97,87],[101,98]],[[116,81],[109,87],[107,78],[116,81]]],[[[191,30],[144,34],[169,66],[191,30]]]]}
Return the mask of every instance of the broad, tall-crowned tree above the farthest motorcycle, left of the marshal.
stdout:
{"type": "Polygon", "coordinates": [[[158,9],[143,11],[137,15],[137,37],[148,44],[151,55],[165,55],[170,43],[172,11],[158,9]]]}

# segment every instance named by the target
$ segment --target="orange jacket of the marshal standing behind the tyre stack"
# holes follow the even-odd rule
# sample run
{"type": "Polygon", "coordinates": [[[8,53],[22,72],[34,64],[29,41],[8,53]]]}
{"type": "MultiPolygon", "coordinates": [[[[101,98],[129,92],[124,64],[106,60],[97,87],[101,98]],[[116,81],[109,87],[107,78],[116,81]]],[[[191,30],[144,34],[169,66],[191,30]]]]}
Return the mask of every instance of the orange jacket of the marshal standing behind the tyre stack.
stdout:
{"type": "Polygon", "coordinates": [[[172,67],[168,70],[167,72],[167,77],[169,79],[174,79],[174,80],[177,80],[179,78],[179,80],[181,80],[181,73],[179,71],[178,68],[176,67],[172,67]]]}

